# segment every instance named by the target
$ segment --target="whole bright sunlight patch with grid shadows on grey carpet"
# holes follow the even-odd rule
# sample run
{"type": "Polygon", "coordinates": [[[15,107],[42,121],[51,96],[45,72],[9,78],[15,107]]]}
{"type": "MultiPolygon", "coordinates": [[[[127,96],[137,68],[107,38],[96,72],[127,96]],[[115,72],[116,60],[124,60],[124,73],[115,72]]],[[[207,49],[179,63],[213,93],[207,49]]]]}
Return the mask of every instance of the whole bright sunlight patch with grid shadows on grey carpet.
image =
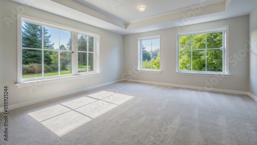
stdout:
{"type": "Polygon", "coordinates": [[[134,97],[102,91],[31,112],[29,115],[62,137],[132,98],[134,97]]]}

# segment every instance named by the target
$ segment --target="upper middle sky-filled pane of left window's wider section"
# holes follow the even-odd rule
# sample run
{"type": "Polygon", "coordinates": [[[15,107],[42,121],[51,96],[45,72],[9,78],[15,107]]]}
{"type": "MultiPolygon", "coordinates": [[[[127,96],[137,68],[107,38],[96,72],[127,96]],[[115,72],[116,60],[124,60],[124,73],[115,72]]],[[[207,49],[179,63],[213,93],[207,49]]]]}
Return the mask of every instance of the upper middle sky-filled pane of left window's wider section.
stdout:
{"type": "Polygon", "coordinates": [[[59,29],[44,26],[44,49],[59,49],[59,29]]]}

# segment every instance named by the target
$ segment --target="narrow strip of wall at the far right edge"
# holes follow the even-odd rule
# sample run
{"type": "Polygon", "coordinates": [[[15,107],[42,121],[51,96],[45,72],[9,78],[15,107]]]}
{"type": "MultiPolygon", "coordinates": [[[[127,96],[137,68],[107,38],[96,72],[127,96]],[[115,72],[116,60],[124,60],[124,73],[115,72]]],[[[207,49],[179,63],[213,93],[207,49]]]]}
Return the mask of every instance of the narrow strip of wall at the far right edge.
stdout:
{"type": "Polygon", "coordinates": [[[257,7],[250,14],[249,93],[257,96],[257,7]]]}

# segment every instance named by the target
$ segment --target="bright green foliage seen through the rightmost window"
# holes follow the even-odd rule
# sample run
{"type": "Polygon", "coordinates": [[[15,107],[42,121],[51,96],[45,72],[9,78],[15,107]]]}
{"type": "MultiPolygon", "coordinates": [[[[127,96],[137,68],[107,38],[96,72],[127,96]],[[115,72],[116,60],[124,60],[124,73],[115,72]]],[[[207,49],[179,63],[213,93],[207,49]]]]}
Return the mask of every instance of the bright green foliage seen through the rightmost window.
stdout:
{"type": "Polygon", "coordinates": [[[179,70],[223,71],[222,46],[222,32],[179,37],[179,70]]]}

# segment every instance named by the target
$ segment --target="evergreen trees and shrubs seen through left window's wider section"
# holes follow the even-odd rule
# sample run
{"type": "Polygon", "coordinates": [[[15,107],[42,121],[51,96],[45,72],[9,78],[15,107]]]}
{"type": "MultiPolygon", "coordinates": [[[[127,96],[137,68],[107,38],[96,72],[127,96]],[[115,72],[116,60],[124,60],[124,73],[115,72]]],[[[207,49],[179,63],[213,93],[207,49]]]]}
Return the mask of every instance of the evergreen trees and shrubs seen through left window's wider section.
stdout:
{"type": "MultiPolygon", "coordinates": [[[[23,76],[25,78],[42,76],[42,57],[44,57],[44,76],[58,75],[59,60],[60,69],[67,70],[67,65],[71,63],[71,52],[52,51],[54,49],[54,43],[51,43],[51,34],[48,34],[47,27],[43,28],[44,34],[42,34],[42,26],[26,23],[22,27],[22,51],[23,55],[23,76]],[[44,36],[44,55],[42,55],[42,37],[44,36]],[[26,48],[38,48],[40,50],[26,49],[26,48]],[[33,74],[33,75],[32,75],[33,74]],[[40,75],[41,74],[41,75],[40,75]],[[48,74],[48,75],[47,75],[48,74]]],[[[67,44],[67,49],[71,50],[71,40],[67,44]]],[[[60,46],[60,50],[66,50],[64,45],[60,46]]],[[[70,65],[69,65],[70,66],[70,65]]],[[[71,73],[71,70],[69,70],[71,73]]],[[[60,72],[60,74],[62,74],[60,72]]]]}

